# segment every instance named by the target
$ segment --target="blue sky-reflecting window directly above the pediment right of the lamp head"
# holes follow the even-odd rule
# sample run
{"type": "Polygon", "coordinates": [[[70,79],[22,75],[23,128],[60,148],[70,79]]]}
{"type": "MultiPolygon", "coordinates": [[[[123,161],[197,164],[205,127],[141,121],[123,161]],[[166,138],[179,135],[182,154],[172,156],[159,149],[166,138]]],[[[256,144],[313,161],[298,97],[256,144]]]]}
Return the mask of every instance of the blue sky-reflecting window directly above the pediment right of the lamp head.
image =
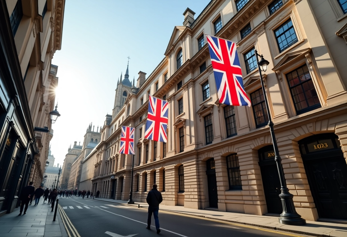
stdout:
{"type": "Polygon", "coordinates": [[[280,52],[288,49],[291,45],[298,42],[291,19],[278,27],[275,31],[278,49],[280,52]]]}

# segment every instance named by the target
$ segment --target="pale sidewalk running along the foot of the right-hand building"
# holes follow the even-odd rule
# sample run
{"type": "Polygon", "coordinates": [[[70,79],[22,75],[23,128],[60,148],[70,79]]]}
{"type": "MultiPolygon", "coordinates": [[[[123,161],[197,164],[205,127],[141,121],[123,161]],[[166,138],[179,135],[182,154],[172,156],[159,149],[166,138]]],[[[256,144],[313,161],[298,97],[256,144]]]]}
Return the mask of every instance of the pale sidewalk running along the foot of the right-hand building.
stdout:
{"type": "MultiPolygon", "coordinates": [[[[122,200],[113,200],[98,198],[97,200],[113,202],[119,204],[127,205],[127,201],[122,200]]],[[[143,202],[135,202],[135,206],[147,208],[148,204],[143,202]]],[[[251,225],[262,228],[288,231],[296,234],[304,234],[311,236],[331,236],[331,237],[347,237],[347,224],[344,223],[330,223],[322,221],[306,221],[307,224],[304,226],[289,226],[282,225],[278,223],[278,217],[271,216],[257,216],[243,213],[234,213],[234,212],[221,212],[213,210],[198,210],[185,208],[181,206],[169,206],[169,205],[160,205],[160,210],[176,212],[181,214],[187,214],[192,216],[204,217],[209,219],[216,219],[221,221],[228,221],[239,223],[243,225],[251,225]]]]}

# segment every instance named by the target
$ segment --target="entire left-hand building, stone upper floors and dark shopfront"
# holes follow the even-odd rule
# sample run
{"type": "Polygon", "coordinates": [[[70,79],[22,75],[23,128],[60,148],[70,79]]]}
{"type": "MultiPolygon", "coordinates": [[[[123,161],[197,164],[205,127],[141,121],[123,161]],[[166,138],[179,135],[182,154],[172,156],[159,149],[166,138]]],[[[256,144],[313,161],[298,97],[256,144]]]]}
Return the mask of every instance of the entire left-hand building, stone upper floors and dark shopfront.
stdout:
{"type": "Polygon", "coordinates": [[[43,180],[64,7],[65,0],[0,1],[0,216],[18,207],[24,186],[43,180]]]}

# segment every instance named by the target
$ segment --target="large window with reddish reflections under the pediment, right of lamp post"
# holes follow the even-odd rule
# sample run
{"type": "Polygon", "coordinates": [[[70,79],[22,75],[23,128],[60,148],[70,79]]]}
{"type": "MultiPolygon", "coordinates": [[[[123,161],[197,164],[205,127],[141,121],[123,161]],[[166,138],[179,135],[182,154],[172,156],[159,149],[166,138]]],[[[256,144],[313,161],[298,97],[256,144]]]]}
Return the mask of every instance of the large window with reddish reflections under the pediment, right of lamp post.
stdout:
{"type": "Polygon", "coordinates": [[[286,77],[297,114],[321,107],[306,64],[289,72],[286,77]]]}

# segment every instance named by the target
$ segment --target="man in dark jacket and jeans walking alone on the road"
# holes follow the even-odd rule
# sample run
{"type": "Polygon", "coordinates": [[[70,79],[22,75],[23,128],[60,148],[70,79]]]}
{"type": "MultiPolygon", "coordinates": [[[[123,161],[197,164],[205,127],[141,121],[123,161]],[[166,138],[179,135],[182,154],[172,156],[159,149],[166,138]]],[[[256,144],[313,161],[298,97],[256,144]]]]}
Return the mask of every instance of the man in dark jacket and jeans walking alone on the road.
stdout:
{"type": "Polygon", "coordinates": [[[151,219],[152,219],[152,213],[154,216],[155,221],[155,228],[156,233],[160,233],[159,229],[159,218],[158,218],[158,212],[159,212],[159,203],[163,201],[163,197],[161,193],[156,189],[158,185],[153,184],[153,188],[151,191],[148,192],[146,202],[148,203],[148,219],[147,219],[147,226],[146,229],[151,229],[151,219]]]}

